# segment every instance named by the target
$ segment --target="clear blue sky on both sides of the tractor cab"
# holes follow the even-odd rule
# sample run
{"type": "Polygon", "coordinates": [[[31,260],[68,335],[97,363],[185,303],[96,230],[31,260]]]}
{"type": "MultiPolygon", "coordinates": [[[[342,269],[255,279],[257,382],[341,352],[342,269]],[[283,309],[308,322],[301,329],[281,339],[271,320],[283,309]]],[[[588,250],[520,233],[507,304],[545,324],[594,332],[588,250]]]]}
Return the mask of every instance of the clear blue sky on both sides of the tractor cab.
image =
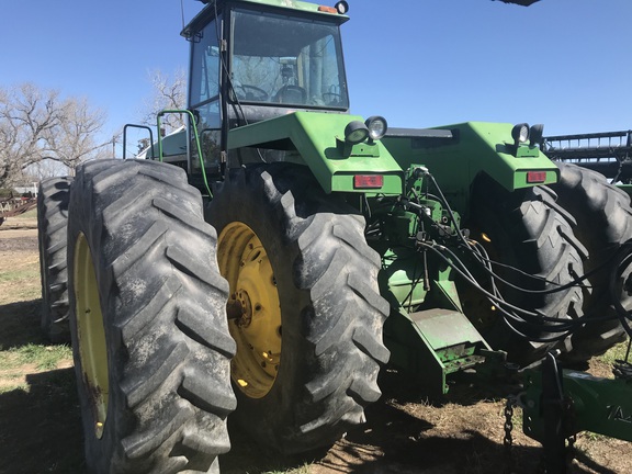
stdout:
{"type": "MultiPolygon", "coordinates": [[[[189,21],[202,3],[183,0],[189,21]]],[[[335,0],[326,2],[334,4],[335,0]]],[[[545,135],[632,127],[631,0],[349,0],[351,111],[392,126],[544,123],[545,135]]],[[[0,84],[32,81],[137,122],[149,71],[187,67],[180,0],[8,1],[0,84]]]]}

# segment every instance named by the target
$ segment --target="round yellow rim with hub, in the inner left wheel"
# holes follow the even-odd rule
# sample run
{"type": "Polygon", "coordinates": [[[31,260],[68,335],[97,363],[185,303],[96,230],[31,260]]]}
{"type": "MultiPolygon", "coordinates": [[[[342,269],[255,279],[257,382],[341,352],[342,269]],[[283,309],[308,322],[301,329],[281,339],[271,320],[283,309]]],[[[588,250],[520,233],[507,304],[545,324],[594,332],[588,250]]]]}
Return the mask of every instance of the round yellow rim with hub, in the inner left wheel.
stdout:
{"type": "Polygon", "coordinates": [[[242,223],[224,228],[217,242],[219,271],[230,285],[228,328],[237,342],[230,373],[251,398],[266,396],[281,361],[281,307],[268,252],[242,223]]]}

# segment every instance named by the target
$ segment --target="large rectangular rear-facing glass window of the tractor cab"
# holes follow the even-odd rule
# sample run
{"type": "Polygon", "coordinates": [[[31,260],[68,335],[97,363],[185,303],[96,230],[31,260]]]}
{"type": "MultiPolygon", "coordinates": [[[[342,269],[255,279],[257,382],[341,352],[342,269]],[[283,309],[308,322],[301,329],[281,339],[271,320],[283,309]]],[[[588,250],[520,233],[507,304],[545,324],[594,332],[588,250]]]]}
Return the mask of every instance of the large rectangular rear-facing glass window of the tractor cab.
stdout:
{"type": "Polygon", "coordinates": [[[236,10],[232,31],[233,100],[349,108],[337,24],[236,10]]]}

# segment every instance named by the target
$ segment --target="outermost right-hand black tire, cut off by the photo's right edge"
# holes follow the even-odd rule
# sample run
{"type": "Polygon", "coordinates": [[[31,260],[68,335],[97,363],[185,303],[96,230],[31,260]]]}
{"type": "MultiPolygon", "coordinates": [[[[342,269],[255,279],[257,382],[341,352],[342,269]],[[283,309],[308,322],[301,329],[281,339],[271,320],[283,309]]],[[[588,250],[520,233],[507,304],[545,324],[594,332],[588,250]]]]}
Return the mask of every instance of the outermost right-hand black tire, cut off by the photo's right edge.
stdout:
{"type": "MultiPolygon", "coordinates": [[[[610,301],[609,282],[613,255],[621,244],[632,238],[632,208],[630,196],[610,185],[602,174],[576,165],[556,165],[560,181],[550,188],[557,195],[557,204],[577,221],[575,235],[588,250],[585,271],[602,267],[586,281],[591,292],[585,295],[583,308],[586,318],[601,320],[587,323],[576,330],[572,337],[573,349],[564,357],[577,362],[603,353],[625,338],[610,301]]],[[[621,304],[627,309],[632,308],[632,297],[623,290],[623,283],[630,272],[631,269],[627,269],[618,281],[621,304]]]]}

